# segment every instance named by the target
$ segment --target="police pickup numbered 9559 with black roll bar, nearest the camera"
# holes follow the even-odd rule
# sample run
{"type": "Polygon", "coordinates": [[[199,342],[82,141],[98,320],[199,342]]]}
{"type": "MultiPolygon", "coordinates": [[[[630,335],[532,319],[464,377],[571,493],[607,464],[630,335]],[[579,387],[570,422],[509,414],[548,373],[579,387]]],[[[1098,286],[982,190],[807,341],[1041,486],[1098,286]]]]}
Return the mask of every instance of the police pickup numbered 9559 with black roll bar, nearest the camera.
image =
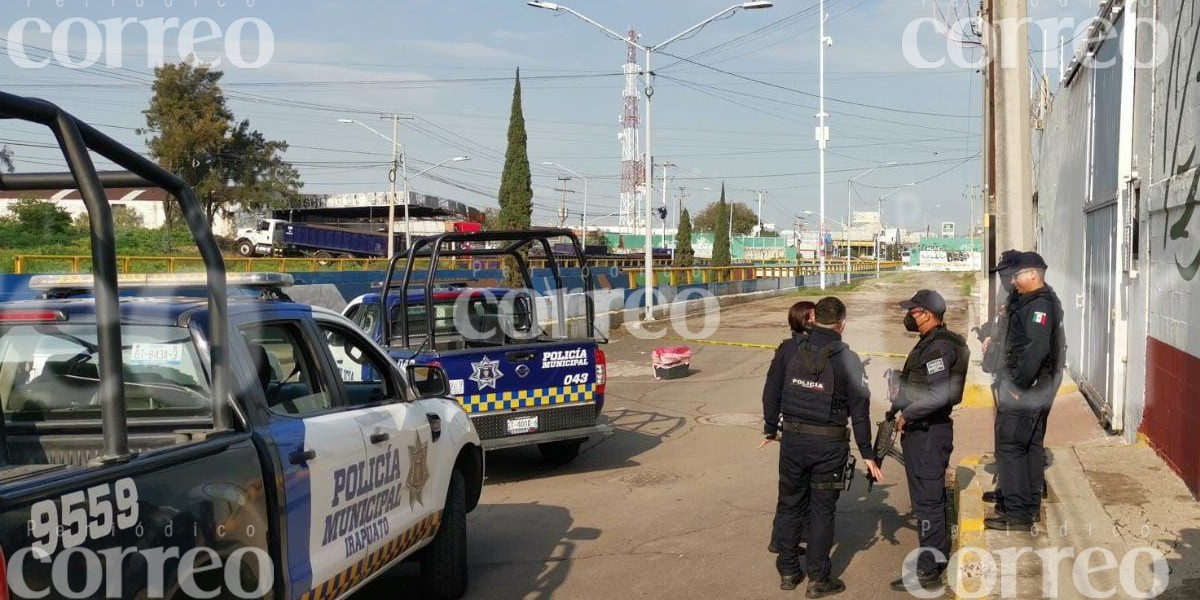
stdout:
{"type": "Polygon", "coordinates": [[[58,107],[0,92],[2,118],[49,127],[71,173],[0,190],[79,188],[92,275],[0,304],[0,598],[336,599],[410,557],[462,596],[484,456],[444,372],[281,300],[286,275],[227,277],[186,184],[58,107]],[[199,282],[118,277],[106,186],[179,199],[199,282]]]}

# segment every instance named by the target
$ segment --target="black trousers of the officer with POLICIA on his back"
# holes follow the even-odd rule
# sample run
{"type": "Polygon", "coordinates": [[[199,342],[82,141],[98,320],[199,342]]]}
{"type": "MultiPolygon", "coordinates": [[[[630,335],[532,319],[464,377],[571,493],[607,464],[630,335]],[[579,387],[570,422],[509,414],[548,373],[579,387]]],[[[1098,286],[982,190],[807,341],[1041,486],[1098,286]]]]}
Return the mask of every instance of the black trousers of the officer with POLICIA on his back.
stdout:
{"type": "Polygon", "coordinates": [[[808,433],[784,433],[779,449],[779,504],[773,540],[780,575],[808,571],[810,580],[829,577],[834,511],[841,488],[834,479],[846,468],[850,443],[808,433]],[[816,487],[814,487],[816,485],[816,487]],[[810,514],[809,542],[800,560],[800,527],[810,514]]]}

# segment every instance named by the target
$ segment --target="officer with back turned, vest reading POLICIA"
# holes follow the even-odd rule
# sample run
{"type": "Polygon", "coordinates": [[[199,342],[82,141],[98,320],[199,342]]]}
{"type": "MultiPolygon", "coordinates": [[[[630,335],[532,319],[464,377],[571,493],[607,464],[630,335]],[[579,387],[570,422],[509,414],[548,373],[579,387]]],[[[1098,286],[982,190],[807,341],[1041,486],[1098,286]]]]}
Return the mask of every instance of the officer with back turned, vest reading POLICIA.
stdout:
{"type": "Polygon", "coordinates": [[[763,386],[763,433],[760,446],[779,440],[779,505],[774,546],[780,588],[794,589],[809,575],[808,598],[846,589],[830,574],[834,510],[845,488],[850,461],[847,420],[868,473],[881,480],[871,448],[870,390],[863,361],[841,341],[846,306],[836,298],[816,305],[808,336],[785,342],[775,352],[763,386]],[[782,422],[780,422],[782,415],[782,422]],[[782,428],[782,439],[779,439],[782,428]],[[800,527],[811,511],[808,548],[800,562],[800,527]]]}

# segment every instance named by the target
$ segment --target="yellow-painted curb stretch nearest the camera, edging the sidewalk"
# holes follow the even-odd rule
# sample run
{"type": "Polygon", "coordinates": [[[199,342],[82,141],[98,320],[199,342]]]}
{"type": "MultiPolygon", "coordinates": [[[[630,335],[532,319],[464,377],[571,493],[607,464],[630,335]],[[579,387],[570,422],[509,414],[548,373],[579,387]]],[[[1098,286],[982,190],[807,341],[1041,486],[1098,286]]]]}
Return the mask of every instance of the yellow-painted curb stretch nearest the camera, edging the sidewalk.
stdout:
{"type": "Polygon", "coordinates": [[[954,592],[954,598],[978,598],[976,594],[968,596],[959,595],[968,589],[978,590],[984,581],[984,565],[979,559],[978,551],[986,548],[986,533],[983,520],[986,516],[986,506],[983,502],[983,481],[979,478],[978,467],[983,464],[983,455],[972,455],[959,462],[954,478],[954,506],[958,508],[956,524],[952,545],[955,564],[949,565],[949,587],[954,592]],[[970,484],[964,488],[959,485],[965,480],[964,475],[970,474],[970,484]],[[976,552],[960,552],[962,548],[976,548],[976,552]]]}

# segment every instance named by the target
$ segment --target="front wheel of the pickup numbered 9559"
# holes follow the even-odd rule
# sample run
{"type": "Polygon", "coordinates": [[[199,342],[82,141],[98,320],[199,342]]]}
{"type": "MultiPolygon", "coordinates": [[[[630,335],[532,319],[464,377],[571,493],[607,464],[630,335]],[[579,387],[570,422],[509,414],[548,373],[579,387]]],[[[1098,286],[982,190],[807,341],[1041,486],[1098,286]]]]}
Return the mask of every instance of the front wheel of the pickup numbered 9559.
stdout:
{"type": "Polygon", "coordinates": [[[450,475],[438,533],[421,556],[421,584],[437,600],[467,593],[467,482],[458,469],[450,475]]]}

